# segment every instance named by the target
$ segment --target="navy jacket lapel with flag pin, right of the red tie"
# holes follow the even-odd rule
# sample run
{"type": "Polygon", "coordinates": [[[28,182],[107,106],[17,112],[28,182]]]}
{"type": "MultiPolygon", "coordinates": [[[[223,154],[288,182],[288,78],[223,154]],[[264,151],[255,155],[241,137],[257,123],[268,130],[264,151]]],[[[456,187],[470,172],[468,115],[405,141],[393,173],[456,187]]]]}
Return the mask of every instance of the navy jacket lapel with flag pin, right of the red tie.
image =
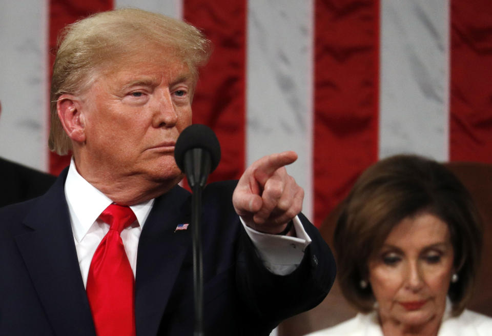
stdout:
{"type": "Polygon", "coordinates": [[[155,336],[176,277],[191,248],[190,193],[178,186],[158,197],[138,243],[135,317],[138,336],[155,336]]]}

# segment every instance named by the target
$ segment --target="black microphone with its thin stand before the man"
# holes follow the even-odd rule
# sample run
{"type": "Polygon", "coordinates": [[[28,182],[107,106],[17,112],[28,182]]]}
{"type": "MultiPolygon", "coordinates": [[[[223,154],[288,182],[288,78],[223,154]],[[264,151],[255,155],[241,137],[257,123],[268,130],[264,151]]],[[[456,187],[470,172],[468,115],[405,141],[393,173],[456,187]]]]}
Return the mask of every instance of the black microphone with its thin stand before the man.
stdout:
{"type": "Polygon", "coordinates": [[[195,293],[195,332],[203,336],[203,258],[201,248],[201,193],[207,177],[220,161],[220,145],[214,131],[194,124],[183,129],[174,147],[174,160],[186,173],[191,195],[191,231],[193,243],[193,291],[195,293]]]}

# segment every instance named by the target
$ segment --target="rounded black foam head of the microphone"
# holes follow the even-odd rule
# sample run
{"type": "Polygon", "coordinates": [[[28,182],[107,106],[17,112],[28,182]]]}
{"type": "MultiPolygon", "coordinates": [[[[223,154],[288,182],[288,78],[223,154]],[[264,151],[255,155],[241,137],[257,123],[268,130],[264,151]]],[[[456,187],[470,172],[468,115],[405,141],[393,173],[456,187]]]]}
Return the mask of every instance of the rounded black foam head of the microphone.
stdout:
{"type": "Polygon", "coordinates": [[[174,160],[181,171],[185,171],[185,153],[194,148],[201,148],[210,153],[210,172],[214,171],[220,161],[220,144],[210,127],[193,124],[179,134],[174,147],[174,160]]]}

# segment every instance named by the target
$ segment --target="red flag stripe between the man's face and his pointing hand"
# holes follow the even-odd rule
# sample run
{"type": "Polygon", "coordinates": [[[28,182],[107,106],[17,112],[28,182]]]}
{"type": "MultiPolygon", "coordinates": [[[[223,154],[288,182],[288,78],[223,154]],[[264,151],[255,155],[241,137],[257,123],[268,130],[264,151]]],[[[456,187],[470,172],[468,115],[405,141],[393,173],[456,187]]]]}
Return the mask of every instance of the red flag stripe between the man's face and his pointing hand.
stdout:
{"type": "Polygon", "coordinates": [[[211,182],[238,179],[244,171],[246,16],[244,0],[183,1],[183,18],[214,44],[193,102],[193,123],[210,126],[222,150],[211,182]]]}

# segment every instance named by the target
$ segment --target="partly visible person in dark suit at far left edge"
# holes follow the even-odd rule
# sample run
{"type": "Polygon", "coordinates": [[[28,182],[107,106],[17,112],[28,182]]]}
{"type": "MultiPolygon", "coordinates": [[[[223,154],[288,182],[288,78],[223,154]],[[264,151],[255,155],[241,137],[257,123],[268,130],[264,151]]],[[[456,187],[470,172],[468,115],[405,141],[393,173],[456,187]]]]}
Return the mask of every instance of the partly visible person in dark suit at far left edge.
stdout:
{"type": "MultiPolygon", "coordinates": [[[[0,104],[2,114],[2,104],[0,104]]],[[[44,194],[56,177],[0,157],[0,207],[44,194]]]]}

